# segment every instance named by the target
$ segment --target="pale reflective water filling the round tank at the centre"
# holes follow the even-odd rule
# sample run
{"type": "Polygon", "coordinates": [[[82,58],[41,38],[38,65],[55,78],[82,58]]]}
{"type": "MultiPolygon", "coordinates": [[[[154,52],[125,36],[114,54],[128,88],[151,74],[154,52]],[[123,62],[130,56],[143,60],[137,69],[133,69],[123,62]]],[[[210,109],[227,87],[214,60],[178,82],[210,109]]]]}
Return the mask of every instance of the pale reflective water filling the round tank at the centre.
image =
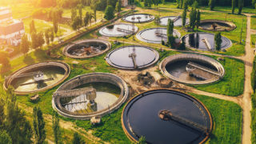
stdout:
{"type": "Polygon", "coordinates": [[[109,59],[115,66],[124,68],[134,68],[133,59],[129,57],[130,54],[136,54],[135,62],[137,66],[146,66],[156,59],[156,54],[143,46],[125,46],[118,50],[114,50],[109,59]]]}

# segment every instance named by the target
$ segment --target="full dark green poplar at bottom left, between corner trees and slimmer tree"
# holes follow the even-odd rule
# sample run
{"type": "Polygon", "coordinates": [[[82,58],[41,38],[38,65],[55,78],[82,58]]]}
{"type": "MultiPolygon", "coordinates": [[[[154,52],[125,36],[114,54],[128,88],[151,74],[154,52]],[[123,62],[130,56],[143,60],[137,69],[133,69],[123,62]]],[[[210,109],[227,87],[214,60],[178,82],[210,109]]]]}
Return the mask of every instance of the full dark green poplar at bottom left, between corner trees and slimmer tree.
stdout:
{"type": "Polygon", "coordinates": [[[46,139],[45,122],[40,107],[34,106],[33,110],[34,139],[37,144],[42,144],[46,139]]]}

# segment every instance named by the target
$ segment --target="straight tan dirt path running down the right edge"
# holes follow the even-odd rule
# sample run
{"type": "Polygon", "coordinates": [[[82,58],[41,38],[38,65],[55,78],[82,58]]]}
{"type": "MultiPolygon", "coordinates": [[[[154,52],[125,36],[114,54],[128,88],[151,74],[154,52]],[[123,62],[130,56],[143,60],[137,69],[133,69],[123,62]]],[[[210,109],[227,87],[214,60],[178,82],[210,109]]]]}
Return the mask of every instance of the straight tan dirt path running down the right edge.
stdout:
{"type": "Polygon", "coordinates": [[[250,16],[251,14],[246,14],[247,16],[247,32],[246,32],[246,55],[245,55],[245,86],[242,98],[242,109],[243,109],[243,124],[242,124],[242,143],[251,143],[251,129],[250,129],[250,110],[251,110],[251,98],[253,90],[250,83],[250,74],[253,70],[252,63],[254,61],[254,50],[250,47],[250,16]]]}

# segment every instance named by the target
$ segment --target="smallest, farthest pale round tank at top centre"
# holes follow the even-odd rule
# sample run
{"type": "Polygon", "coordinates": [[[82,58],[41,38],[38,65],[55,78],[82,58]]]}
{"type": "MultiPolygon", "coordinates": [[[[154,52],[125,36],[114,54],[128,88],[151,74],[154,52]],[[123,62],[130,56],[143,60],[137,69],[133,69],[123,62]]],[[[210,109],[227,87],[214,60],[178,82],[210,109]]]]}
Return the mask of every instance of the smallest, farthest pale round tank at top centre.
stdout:
{"type": "Polygon", "coordinates": [[[152,14],[129,14],[122,18],[125,22],[144,23],[151,22],[154,20],[152,14]]]}

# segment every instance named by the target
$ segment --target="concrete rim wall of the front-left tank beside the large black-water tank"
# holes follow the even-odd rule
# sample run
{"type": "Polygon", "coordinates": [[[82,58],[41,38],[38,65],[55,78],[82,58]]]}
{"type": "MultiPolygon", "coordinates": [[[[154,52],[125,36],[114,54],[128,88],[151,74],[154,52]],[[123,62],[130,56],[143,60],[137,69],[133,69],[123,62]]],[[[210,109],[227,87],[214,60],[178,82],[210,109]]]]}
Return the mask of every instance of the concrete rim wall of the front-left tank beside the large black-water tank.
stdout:
{"type": "MultiPolygon", "coordinates": [[[[58,114],[62,115],[66,118],[73,118],[73,119],[79,119],[79,120],[87,120],[92,117],[97,116],[104,116],[106,114],[110,114],[114,110],[117,110],[124,102],[126,102],[126,99],[128,98],[129,94],[129,87],[127,86],[126,82],[118,77],[115,74],[109,74],[109,73],[90,73],[90,74],[82,74],[78,75],[75,78],[72,78],[65,83],[62,84],[62,86],[58,87],[58,90],[72,90],[77,86],[81,86],[86,83],[90,82],[108,82],[115,86],[118,86],[121,89],[121,94],[116,102],[109,106],[106,109],[98,110],[95,112],[87,113],[87,114],[77,114],[70,112],[66,110],[60,103],[60,97],[59,96],[53,96],[52,98],[52,106],[54,110],[58,112],[58,114]],[[78,82],[81,81],[82,82],[78,82]]],[[[56,90],[56,92],[58,91],[56,90]]]]}

